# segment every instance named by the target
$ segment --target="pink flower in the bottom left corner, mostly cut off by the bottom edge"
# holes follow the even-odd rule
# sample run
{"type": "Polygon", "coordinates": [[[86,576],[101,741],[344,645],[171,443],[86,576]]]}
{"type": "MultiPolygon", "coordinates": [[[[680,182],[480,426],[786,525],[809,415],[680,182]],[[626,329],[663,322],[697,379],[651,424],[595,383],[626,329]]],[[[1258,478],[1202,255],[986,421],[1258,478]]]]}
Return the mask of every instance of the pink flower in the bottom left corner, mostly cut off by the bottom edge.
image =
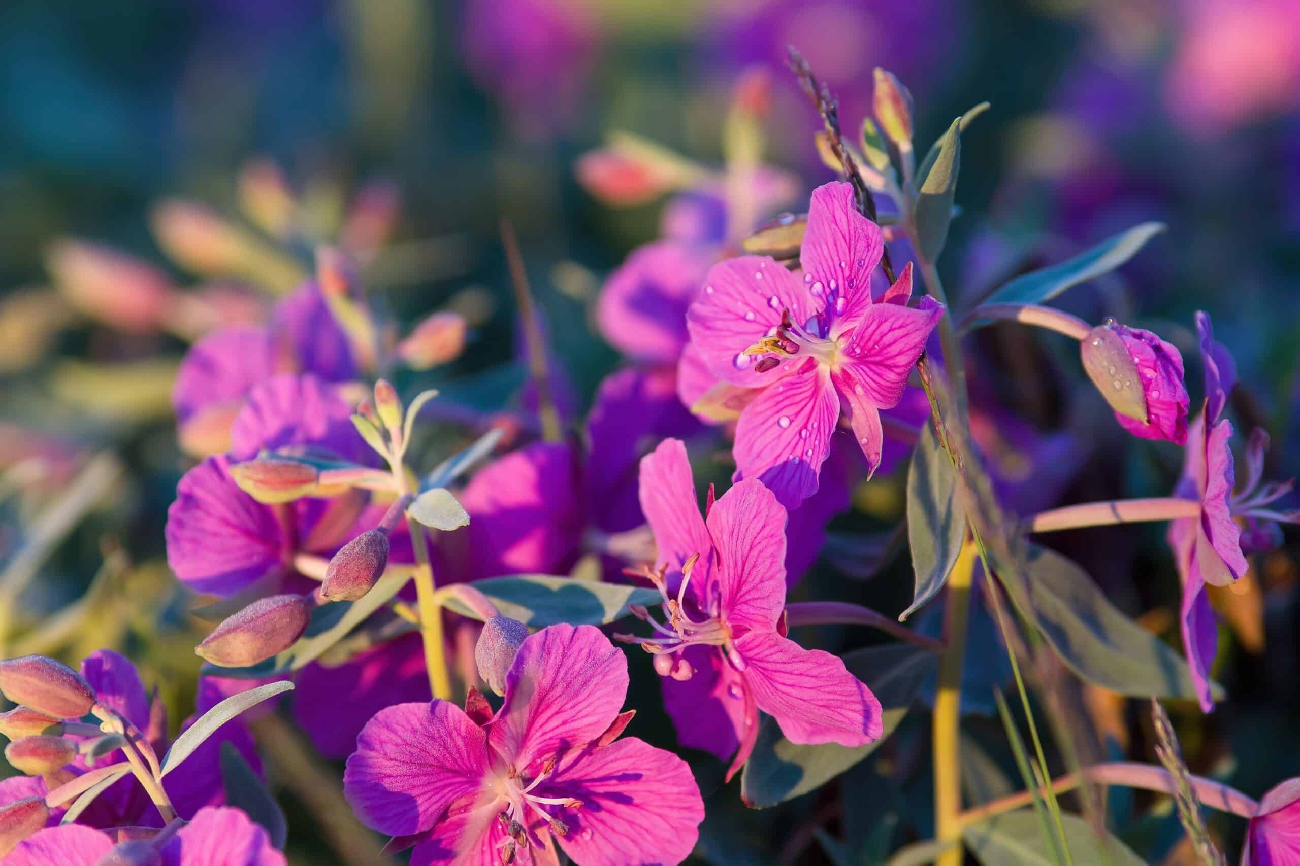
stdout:
{"type": "MultiPolygon", "coordinates": [[[[5,866],[98,866],[118,862],[113,835],[64,824],[48,827],[18,843],[5,858],[5,866]]],[[[139,843],[133,843],[139,845],[139,843]]],[[[194,819],[153,847],[159,866],[285,866],[285,856],[276,850],[270,836],[248,821],[239,809],[207,808],[194,819]]],[[[121,862],[139,862],[135,860],[121,862]]]]}

